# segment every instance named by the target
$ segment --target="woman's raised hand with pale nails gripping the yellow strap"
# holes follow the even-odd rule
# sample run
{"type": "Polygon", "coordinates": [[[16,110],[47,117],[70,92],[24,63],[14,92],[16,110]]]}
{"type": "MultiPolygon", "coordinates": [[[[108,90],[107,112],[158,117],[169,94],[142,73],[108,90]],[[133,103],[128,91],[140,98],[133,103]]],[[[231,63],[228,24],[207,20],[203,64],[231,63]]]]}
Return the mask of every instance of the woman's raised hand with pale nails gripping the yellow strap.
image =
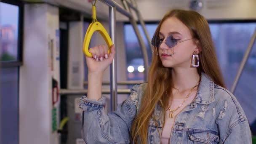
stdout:
{"type": "Polygon", "coordinates": [[[110,53],[107,53],[108,47],[106,45],[98,45],[90,48],[89,52],[93,57],[86,56],[86,63],[89,73],[104,73],[105,69],[112,63],[115,56],[115,46],[110,47],[110,53]]]}

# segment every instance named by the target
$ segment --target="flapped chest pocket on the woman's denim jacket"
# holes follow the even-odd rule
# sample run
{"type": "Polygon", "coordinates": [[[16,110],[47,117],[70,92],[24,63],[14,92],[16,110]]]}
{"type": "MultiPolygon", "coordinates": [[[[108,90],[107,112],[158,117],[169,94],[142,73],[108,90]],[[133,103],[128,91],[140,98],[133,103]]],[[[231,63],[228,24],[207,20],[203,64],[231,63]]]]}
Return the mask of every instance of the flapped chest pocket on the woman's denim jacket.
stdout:
{"type": "Polygon", "coordinates": [[[211,132],[189,131],[188,144],[217,144],[219,136],[211,132]]]}

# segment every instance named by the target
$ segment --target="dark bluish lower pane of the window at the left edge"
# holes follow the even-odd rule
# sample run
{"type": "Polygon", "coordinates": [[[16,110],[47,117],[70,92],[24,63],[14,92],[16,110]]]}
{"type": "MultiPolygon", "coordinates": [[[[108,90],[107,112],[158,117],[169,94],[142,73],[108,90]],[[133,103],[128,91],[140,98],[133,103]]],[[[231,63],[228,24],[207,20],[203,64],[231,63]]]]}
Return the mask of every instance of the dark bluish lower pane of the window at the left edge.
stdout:
{"type": "Polygon", "coordinates": [[[19,100],[18,67],[0,69],[0,144],[18,144],[19,142],[19,100]]]}

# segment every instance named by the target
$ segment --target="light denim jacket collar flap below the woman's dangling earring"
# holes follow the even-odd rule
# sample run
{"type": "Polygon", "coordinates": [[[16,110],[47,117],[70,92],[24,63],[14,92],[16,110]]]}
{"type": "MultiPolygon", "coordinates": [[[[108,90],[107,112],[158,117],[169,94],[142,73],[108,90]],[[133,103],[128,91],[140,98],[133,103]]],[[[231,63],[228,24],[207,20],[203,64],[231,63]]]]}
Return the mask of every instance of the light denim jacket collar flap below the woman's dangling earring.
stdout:
{"type": "Polygon", "coordinates": [[[214,101],[214,82],[208,75],[202,72],[199,89],[195,102],[197,104],[210,104],[214,101]]]}

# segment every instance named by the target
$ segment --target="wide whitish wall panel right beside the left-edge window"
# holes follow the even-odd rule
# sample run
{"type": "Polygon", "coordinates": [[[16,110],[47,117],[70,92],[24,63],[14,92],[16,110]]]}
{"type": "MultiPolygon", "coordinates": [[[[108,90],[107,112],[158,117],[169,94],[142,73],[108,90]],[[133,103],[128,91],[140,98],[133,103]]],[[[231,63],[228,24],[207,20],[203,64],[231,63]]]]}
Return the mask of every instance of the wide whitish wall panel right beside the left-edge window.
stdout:
{"type": "Polygon", "coordinates": [[[59,29],[58,8],[47,4],[25,5],[23,66],[19,80],[19,144],[58,143],[57,133],[52,132],[51,113],[52,77],[59,81],[56,29],[59,29]],[[51,39],[52,62],[48,51],[51,39]]]}

